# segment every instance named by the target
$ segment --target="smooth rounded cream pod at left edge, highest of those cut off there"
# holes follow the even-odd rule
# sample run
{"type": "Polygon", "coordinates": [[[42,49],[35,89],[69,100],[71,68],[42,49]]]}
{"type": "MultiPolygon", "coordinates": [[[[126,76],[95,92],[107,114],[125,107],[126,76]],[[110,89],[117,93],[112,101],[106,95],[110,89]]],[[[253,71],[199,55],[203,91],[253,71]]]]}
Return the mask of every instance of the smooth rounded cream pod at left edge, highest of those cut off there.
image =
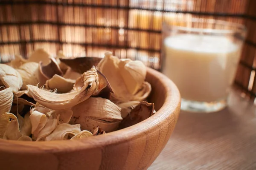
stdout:
{"type": "Polygon", "coordinates": [[[0,85],[12,88],[13,93],[17,93],[22,86],[22,77],[18,71],[6,64],[0,64],[0,85]]]}

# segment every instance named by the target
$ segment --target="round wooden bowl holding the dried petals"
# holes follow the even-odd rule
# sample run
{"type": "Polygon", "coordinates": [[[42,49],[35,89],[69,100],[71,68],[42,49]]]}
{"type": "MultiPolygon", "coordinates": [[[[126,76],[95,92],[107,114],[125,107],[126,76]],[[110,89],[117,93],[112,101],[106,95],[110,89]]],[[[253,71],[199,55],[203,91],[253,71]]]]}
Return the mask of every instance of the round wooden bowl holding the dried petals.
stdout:
{"type": "Polygon", "coordinates": [[[76,141],[0,140],[2,170],[142,170],[166,145],[180,113],[180,93],[160,72],[148,68],[149,102],[155,113],[131,127],[76,141]]]}

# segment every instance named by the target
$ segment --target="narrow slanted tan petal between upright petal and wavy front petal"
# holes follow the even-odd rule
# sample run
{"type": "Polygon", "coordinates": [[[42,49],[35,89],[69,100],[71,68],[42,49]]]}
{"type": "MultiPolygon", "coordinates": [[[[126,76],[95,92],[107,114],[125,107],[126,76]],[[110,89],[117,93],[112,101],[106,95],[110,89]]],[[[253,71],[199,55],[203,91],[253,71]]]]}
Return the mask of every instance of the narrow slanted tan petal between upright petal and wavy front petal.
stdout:
{"type": "Polygon", "coordinates": [[[50,133],[52,133],[52,131],[57,127],[57,125],[57,119],[47,119],[46,125],[42,130],[40,130],[36,141],[39,141],[46,137],[47,135],[49,135],[50,133]]]}

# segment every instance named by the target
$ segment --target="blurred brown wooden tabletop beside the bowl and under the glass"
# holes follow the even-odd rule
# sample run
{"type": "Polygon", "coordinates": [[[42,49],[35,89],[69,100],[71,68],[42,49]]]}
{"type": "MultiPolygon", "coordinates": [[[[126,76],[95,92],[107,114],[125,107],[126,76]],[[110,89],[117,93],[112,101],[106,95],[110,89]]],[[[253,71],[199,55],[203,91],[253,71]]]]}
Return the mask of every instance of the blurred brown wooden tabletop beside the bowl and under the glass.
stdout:
{"type": "Polygon", "coordinates": [[[232,92],[216,113],[181,111],[148,170],[256,170],[256,106],[232,92]]]}

